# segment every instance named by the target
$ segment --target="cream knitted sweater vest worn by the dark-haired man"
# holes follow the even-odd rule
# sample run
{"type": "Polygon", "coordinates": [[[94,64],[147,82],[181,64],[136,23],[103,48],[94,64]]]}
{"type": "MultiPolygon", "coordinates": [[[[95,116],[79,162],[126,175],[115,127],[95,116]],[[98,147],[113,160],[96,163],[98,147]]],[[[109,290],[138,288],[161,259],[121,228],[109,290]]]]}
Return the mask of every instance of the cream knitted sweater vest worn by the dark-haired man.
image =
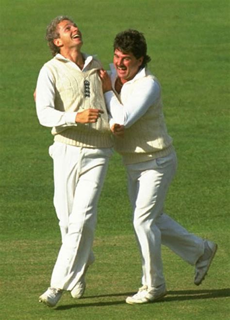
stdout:
{"type": "MultiPolygon", "coordinates": [[[[146,76],[159,84],[150,72],[146,76]]],[[[123,105],[125,105],[127,98],[135,90],[138,90],[142,79],[140,77],[136,80],[133,79],[134,81],[129,85],[127,83],[126,88],[121,91],[120,100],[123,105]]],[[[139,120],[125,129],[123,139],[115,139],[115,150],[122,155],[125,164],[164,157],[174,151],[172,139],[167,134],[164,121],[161,94],[159,99],[148,108],[139,120]]]]}

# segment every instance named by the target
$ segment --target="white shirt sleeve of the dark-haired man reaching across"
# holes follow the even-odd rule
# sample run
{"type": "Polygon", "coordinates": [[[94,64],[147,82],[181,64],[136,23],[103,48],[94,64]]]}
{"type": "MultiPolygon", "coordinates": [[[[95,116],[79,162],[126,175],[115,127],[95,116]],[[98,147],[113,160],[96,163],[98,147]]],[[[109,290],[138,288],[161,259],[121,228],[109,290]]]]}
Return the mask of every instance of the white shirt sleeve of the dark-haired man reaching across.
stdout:
{"type": "MultiPolygon", "coordinates": [[[[135,86],[124,104],[121,104],[113,91],[105,92],[105,101],[109,113],[117,124],[123,124],[129,128],[138,119],[140,119],[159,98],[160,86],[157,81],[146,78],[144,81],[135,81],[127,83],[125,86],[135,86]]],[[[122,100],[121,90],[121,100],[122,100]]]]}

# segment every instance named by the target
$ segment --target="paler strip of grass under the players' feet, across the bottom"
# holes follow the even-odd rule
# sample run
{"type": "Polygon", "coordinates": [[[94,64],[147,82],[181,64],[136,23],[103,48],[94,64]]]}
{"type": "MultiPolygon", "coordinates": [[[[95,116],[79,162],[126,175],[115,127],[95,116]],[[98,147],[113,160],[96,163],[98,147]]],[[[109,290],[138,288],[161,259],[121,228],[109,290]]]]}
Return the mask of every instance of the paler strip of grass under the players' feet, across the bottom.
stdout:
{"type": "Polygon", "coordinates": [[[3,242],[8,265],[2,273],[2,319],[228,319],[227,252],[221,236],[206,233],[219,243],[210,276],[201,287],[193,285],[193,267],[185,265],[167,249],[163,250],[168,295],[164,301],[141,306],[124,303],[139,285],[140,266],[133,235],[103,236],[95,241],[97,262],[87,273],[83,299],[74,301],[65,293],[55,309],[37,303],[47,287],[59,239],[12,240],[3,242]],[[10,268],[9,268],[10,266],[10,268]],[[218,276],[217,276],[218,275],[218,276]],[[195,318],[196,317],[196,318],[195,318]]]}

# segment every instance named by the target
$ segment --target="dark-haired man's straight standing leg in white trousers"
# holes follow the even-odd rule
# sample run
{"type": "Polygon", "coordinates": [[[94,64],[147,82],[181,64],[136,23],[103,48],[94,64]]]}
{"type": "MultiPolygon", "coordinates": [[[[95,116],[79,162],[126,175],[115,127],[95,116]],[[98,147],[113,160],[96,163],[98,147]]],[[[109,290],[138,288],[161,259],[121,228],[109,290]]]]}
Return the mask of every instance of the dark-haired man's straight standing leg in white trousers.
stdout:
{"type": "Polygon", "coordinates": [[[163,211],[167,189],[175,174],[176,159],[172,154],[158,161],[128,165],[127,170],[132,203],[136,193],[133,225],[142,255],[143,284],[156,288],[164,284],[161,231],[156,220],[163,211]]]}

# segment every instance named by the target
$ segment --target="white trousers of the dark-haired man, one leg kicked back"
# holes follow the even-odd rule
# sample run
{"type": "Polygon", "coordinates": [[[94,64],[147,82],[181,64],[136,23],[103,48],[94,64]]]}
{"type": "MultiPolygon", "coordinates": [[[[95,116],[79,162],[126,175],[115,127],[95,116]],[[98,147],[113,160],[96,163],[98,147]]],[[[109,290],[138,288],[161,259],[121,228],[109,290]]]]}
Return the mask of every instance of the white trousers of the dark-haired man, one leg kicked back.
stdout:
{"type": "Polygon", "coordinates": [[[189,233],[164,213],[164,200],[176,173],[175,152],[141,163],[126,165],[133,208],[133,227],[142,258],[142,284],[164,284],[161,244],[195,265],[204,252],[204,241],[189,233]]]}

